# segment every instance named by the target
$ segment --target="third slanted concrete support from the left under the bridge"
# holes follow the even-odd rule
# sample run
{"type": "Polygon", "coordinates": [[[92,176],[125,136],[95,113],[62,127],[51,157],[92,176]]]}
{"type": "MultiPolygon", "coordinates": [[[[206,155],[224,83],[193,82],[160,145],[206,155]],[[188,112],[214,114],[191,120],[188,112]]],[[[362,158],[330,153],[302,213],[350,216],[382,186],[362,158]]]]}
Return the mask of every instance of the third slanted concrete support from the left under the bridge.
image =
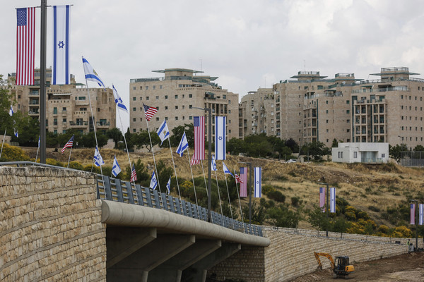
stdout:
{"type": "Polygon", "coordinates": [[[221,246],[220,240],[196,240],[196,243],[168,259],[148,274],[148,281],[181,281],[182,271],[199,262],[221,246]]]}

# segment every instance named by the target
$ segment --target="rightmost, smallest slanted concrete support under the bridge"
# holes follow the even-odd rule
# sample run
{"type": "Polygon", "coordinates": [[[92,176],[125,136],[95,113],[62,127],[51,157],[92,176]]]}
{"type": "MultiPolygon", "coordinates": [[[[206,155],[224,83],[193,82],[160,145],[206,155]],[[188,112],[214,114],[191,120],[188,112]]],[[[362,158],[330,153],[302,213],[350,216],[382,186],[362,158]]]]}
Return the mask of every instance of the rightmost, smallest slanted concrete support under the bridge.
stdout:
{"type": "Polygon", "coordinates": [[[231,257],[241,249],[241,244],[224,243],[218,250],[199,260],[199,262],[190,266],[189,269],[184,270],[182,276],[187,280],[192,278],[192,281],[206,281],[208,269],[231,257]]]}

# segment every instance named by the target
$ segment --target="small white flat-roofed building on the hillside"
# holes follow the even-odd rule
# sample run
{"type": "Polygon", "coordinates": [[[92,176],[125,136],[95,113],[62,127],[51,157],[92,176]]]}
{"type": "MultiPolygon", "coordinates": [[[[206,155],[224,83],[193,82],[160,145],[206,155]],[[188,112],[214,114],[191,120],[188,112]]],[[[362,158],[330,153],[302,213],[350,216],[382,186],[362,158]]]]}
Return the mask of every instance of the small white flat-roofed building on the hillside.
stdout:
{"type": "Polygon", "coordinates": [[[389,161],[389,143],[338,143],[331,148],[331,159],[336,163],[384,163],[389,161]]]}

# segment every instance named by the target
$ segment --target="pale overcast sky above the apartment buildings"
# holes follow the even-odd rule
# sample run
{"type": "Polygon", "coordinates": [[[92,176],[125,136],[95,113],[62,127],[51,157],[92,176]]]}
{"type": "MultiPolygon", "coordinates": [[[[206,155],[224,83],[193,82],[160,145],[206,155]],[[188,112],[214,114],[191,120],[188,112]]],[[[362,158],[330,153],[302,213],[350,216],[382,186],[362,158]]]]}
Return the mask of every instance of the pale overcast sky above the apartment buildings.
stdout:
{"type": "MultiPolygon", "coordinates": [[[[298,71],[369,76],[406,66],[424,77],[424,1],[420,0],[48,0],[71,7],[71,73],[83,82],[81,56],[126,104],[129,80],[190,68],[218,76],[240,98],[298,71]]],[[[16,71],[16,10],[40,0],[2,1],[0,73],[16,71]]],[[[47,9],[47,67],[51,66],[47,9]]],[[[35,66],[40,66],[37,9],[35,66]]],[[[95,87],[95,82],[88,82],[95,87]]],[[[154,106],[154,105],[153,105],[154,106]]],[[[125,114],[122,118],[128,119],[125,114]]]]}

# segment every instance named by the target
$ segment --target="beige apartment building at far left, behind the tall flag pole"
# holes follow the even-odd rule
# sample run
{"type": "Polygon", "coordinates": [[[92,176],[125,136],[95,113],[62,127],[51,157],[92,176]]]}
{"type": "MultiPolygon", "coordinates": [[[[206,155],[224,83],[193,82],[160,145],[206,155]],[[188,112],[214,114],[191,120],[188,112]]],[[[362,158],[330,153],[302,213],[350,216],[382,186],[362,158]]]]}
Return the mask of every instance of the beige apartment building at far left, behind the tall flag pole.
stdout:
{"type": "MultiPolygon", "coordinates": [[[[11,92],[15,96],[15,110],[28,113],[33,118],[40,118],[40,70],[35,69],[34,85],[14,85],[16,73],[9,73],[12,82],[11,92]]],[[[116,106],[111,89],[88,88],[77,83],[71,75],[69,85],[51,85],[52,70],[46,74],[46,119],[47,130],[52,133],[66,133],[71,128],[88,133],[93,131],[91,105],[96,130],[107,130],[116,127],[116,106]]]]}

